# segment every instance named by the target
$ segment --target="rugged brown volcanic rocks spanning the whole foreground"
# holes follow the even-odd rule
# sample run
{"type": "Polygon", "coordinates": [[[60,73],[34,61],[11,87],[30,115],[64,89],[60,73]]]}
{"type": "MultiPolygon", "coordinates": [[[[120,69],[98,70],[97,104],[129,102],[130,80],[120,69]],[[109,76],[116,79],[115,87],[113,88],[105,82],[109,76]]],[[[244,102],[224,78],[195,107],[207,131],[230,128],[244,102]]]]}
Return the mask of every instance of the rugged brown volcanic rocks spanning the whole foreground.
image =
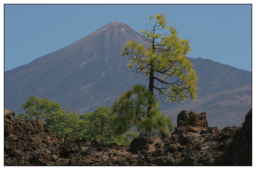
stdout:
{"type": "Polygon", "coordinates": [[[141,133],[129,146],[54,135],[39,120],[4,114],[6,166],[252,166],[252,109],[241,127],[208,127],[205,112],[181,111],[172,134],[141,133]]]}

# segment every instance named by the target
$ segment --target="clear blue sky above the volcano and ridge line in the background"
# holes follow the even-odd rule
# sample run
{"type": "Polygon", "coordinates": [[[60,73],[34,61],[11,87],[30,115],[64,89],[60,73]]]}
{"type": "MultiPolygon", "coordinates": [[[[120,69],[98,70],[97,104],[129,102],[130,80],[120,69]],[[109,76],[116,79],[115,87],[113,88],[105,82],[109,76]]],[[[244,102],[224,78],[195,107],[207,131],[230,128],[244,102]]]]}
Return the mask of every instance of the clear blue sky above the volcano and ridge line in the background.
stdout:
{"type": "Polygon", "coordinates": [[[251,5],[4,5],[4,71],[66,47],[118,21],[140,31],[162,13],[188,55],[252,71],[251,5]]]}

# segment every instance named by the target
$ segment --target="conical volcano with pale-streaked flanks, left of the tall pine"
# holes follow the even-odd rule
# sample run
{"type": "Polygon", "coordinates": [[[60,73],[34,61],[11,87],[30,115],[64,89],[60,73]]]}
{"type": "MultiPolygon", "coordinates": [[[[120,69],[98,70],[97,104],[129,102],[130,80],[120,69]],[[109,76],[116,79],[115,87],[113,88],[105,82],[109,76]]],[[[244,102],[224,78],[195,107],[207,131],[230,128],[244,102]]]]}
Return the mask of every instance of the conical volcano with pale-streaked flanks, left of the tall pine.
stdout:
{"type": "Polygon", "coordinates": [[[111,22],[65,48],[6,71],[5,107],[22,112],[21,103],[31,95],[68,105],[78,113],[92,112],[106,102],[109,106],[141,82],[119,55],[127,40],[145,44],[130,26],[111,22]]]}

